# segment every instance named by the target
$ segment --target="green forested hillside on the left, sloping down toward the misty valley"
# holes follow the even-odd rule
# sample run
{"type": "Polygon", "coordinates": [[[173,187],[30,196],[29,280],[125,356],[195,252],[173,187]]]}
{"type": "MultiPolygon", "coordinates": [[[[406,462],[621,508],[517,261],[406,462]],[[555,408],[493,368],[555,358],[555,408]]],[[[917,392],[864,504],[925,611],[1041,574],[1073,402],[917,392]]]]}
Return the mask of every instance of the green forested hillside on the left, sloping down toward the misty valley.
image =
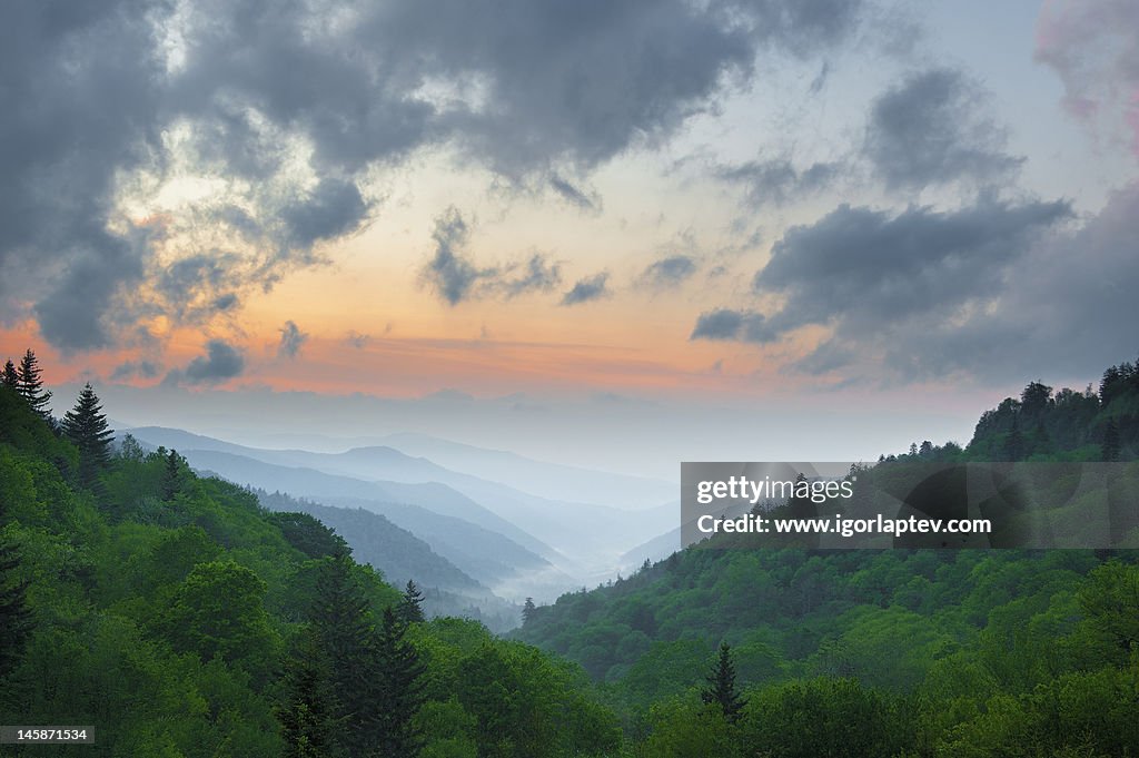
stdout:
{"type": "Polygon", "coordinates": [[[475,622],[421,620],[306,514],[108,445],[0,386],[0,723],[89,725],[51,756],[601,756],[581,669],[475,622]]]}

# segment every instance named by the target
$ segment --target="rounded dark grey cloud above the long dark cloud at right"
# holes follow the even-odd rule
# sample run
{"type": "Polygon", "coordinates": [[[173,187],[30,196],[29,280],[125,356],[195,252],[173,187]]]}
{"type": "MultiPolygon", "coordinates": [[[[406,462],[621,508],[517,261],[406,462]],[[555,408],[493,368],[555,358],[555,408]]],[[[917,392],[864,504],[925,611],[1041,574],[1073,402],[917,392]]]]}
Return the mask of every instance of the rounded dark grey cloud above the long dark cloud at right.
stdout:
{"type": "Polygon", "coordinates": [[[875,100],[863,150],[887,187],[920,189],[1006,178],[1023,158],[1005,147],[981,87],[959,71],[934,68],[875,100]]]}

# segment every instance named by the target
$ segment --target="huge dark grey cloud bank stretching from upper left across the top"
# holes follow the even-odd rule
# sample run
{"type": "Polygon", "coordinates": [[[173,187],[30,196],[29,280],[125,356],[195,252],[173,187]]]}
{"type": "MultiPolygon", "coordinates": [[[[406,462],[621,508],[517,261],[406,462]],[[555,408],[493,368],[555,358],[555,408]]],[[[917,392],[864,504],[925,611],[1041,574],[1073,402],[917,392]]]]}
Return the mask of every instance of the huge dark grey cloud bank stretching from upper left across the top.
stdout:
{"type": "MultiPolygon", "coordinates": [[[[361,182],[425,147],[456,147],[510,180],[554,177],[562,197],[596,207],[557,170],[587,177],[671,136],[731,76],[745,82],[759,52],[814,55],[850,36],[858,10],[855,0],[506,0],[495,13],[434,0],[335,14],[260,0],[3,3],[0,296],[30,303],[64,350],[114,344],[142,316],[210,318],[211,303],[228,311],[319,260],[313,245],[360,229],[375,206],[361,182]],[[136,174],[161,181],[174,165],[229,180],[196,212],[232,239],[159,252],[157,239],[132,238],[118,193],[145,193],[136,174]],[[226,292],[198,267],[199,288],[172,294],[171,258],[219,248],[243,256],[226,292]]],[[[480,272],[445,254],[435,268],[449,302],[480,272]]],[[[502,292],[532,275],[511,274],[502,292]]],[[[550,264],[544,276],[556,278],[550,264]]]]}

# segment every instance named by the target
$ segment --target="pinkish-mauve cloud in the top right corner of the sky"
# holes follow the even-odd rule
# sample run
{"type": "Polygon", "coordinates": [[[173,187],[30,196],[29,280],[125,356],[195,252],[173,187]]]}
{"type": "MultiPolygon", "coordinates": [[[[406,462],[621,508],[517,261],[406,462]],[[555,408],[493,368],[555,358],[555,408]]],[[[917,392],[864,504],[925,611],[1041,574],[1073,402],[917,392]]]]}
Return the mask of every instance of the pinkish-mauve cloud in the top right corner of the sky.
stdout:
{"type": "Polygon", "coordinates": [[[1065,107],[1089,123],[1122,127],[1139,155],[1139,5],[1131,0],[1044,6],[1036,60],[1064,82],[1065,107]]]}

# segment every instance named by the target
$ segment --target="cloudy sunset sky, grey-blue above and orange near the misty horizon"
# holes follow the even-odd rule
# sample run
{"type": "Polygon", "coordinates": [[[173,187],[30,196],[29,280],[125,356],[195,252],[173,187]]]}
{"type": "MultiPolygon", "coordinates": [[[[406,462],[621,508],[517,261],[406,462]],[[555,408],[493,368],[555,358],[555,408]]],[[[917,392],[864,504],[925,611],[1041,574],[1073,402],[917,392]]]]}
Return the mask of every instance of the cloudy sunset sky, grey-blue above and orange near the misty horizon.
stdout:
{"type": "Polygon", "coordinates": [[[1130,0],[0,16],[0,358],[60,413],[667,475],[1139,353],[1130,0]]]}

